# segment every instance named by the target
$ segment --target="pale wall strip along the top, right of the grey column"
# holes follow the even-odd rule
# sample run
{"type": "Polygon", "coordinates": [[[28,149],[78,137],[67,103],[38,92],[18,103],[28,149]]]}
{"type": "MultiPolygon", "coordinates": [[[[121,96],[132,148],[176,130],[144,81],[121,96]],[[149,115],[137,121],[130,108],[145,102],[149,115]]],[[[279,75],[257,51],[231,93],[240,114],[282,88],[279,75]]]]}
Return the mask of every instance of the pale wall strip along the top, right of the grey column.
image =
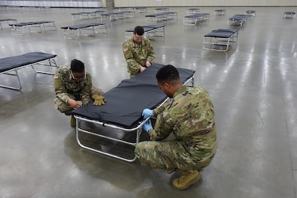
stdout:
{"type": "Polygon", "coordinates": [[[297,0],[114,0],[114,6],[297,6],[297,0]]]}

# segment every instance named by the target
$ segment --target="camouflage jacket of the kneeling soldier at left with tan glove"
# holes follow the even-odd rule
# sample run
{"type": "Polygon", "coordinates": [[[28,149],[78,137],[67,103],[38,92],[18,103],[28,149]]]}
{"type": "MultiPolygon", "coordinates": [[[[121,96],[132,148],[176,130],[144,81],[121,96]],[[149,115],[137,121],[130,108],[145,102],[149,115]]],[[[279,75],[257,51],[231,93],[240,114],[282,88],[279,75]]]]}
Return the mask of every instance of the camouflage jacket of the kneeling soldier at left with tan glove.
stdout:
{"type": "Polygon", "coordinates": [[[88,72],[85,72],[85,79],[76,82],[70,73],[69,66],[59,66],[54,75],[54,91],[56,96],[67,103],[72,94],[81,99],[83,104],[90,101],[92,89],[92,77],[88,72]]]}

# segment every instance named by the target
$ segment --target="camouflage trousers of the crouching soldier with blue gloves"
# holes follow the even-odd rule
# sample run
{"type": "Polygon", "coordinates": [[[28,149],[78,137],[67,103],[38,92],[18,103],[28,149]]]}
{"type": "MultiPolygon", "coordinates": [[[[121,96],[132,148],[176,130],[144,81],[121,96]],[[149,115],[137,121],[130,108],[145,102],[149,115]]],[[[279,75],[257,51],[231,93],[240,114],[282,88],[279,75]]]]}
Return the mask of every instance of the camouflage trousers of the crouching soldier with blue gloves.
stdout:
{"type": "Polygon", "coordinates": [[[189,154],[181,153],[183,148],[176,147],[176,139],[170,141],[142,141],[136,145],[134,150],[136,156],[143,165],[152,166],[152,168],[161,169],[167,173],[179,170],[194,172],[208,166],[212,159],[196,161],[190,159],[189,154]],[[179,152],[178,152],[179,151],[179,152]]]}

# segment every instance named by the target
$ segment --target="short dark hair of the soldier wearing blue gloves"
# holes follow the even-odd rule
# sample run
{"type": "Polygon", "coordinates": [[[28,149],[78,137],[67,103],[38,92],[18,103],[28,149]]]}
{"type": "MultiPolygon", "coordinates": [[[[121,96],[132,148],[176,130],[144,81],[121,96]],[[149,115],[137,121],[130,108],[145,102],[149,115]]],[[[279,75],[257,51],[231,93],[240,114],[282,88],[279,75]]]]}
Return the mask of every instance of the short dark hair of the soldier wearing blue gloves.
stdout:
{"type": "Polygon", "coordinates": [[[156,72],[156,79],[161,83],[174,83],[180,81],[178,70],[172,65],[167,65],[160,68],[158,72],[156,72]]]}

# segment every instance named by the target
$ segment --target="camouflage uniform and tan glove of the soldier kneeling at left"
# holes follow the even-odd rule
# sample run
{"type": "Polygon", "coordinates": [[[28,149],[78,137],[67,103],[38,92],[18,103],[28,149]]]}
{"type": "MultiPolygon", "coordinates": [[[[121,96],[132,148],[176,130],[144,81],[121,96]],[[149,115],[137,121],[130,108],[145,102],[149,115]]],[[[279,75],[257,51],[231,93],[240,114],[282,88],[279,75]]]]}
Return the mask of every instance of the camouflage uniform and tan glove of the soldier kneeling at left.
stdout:
{"type": "Polygon", "coordinates": [[[54,109],[69,115],[73,110],[68,105],[68,99],[82,101],[83,104],[88,103],[92,99],[92,95],[102,95],[103,90],[92,86],[92,77],[85,72],[85,79],[77,82],[72,78],[69,66],[59,66],[54,75],[54,91],[56,99],[54,99],[54,109]]]}

